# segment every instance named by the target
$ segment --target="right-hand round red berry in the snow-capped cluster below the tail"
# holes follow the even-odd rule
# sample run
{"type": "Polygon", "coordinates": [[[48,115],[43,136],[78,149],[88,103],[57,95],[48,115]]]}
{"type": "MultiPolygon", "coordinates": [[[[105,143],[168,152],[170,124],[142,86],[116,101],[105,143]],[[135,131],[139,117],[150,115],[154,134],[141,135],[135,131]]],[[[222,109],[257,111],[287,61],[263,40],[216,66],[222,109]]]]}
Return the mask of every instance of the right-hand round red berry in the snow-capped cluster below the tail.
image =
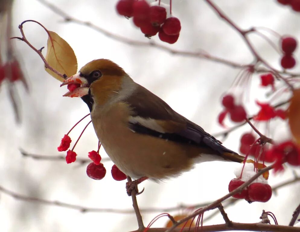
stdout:
{"type": "Polygon", "coordinates": [[[268,184],[252,183],[248,186],[248,196],[251,201],[267,202],[272,196],[272,188],[268,184]]]}

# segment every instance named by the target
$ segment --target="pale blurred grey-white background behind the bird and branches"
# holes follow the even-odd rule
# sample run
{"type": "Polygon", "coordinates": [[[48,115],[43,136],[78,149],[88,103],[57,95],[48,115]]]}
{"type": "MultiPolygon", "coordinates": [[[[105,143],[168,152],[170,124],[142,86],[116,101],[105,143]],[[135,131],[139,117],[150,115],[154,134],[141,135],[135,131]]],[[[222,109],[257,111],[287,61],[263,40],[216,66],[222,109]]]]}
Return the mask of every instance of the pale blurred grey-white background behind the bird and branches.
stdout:
{"type": "MultiPolygon", "coordinates": [[[[0,1],[1,2],[1,1],[0,1]]],[[[132,20],[118,15],[115,0],[70,1],[53,0],[51,3],[70,16],[82,21],[90,21],[113,34],[130,40],[149,42],[132,20]]],[[[168,1],[162,1],[168,3],[168,1]]],[[[268,0],[215,0],[219,7],[239,26],[249,28],[263,26],[279,34],[291,34],[300,38],[300,13],[289,7],[268,0]]],[[[182,30],[179,40],[173,45],[161,42],[158,36],[150,41],[184,51],[203,51],[226,60],[248,64],[253,57],[240,35],[233,31],[204,2],[199,0],[172,2],[173,15],[181,21],[182,30]]],[[[78,68],[98,58],[106,58],[120,65],[136,82],[143,85],[175,111],[199,124],[210,134],[225,130],[217,122],[222,111],[220,99],[228,91],[240,69],[216,63],[211,60],[171,54],[155,47],[138,47],[114,40],[89,27],[73,22],[53,12],[38,0],[14,0],[12,8],[12,36],[21,36],[18,25],[28,19],[39,21],[48,30],[55,31],[65,39],[75,51],[78,68]]],[[[5,59],[3,30],[5,18],[2,17],[1,53],[5,59]]],[[[47,34],[34,23],[24,25],[27,39],[36,47],[46,46],[47,34]]],[[[276,37],[269,36],[276,44],[276,37]]],[[[257,51],[274,67],[280,69],[279,58],[270,44],[258,36],[251,36],[257,51]]],[[[75,162],[67,165],[62,161],[34,160],[21,155],[20,149],[41,156],[64,155],[56,148],[61,138],[84,115],[88,107],[81,99],[65,98],[66,88],[59,88],[60,82],[44,71],[40,57],[24,42],[13,40],[14,55],[20,61],[21,69],[28,83],[29,92],[22,82],[15,82],[20,108],[20,123],[16,123],[15,113],[9,100],[8,81],[0,86],[0,185],[20,195],[61,201],[83,207],[128,209],[132,211],[132,200],[125,192],[125,182],[112,179],[112,162],[104,162],[107,174],[96,181],[86,175],[87,164],[75,162]]],[[[45,51],[43,51],[46,53],[45,51]]],[[[300,49],[295,57],[299,59],[300,49]]],[[[6,58],[7,59],[7,58],[6,58]]],[[[300,66],[292,69],[300,72],[300,66]]],[[[253,75],[247,86],[247,98],[244,104],[249,115],[258,110],[255,99],[268,99],[270,89],[260,87],[258,75],[253,75]]],[[[280,98],[278,98],[280,101],[280,98]]],[[[89,119],[82,122],[70,134],[76,140],[89,119]]],[[[228,127],[233,124],[225,121],[228,127]]],[[[265,124],[260,125],[265,128],[265,124]]],[[[238,151],[240,136],[250,131],[249,126],[241,127],[226,138],[217,137],[231,150],[238,151]]],[[[270,124],[269,135],[275,139],[290,137],[286,123],[274,120],[270,124]]],[[[97,138],[92,126],[89,126],[76,146],[78,157],[87,158],[91,150],[97,149],[97,138]]],[[[100,154],[107,157],[101,148],[100,154]]],[[[195,169],[184,173],[177,179],[160,184],[143,182],[140,189],[144,193],[137,197],[139,207],[171,208],[180,204],[196,205],[210,202],[228,193],[228,183],[235,178],[233,170],[237,164],[209,162],[196,165],[195,169]]],[[[269,184],[276,186],[293,178],[293,171],[286,168],[282,173],[271,172],[269,184]]],[[[238,201],[225,210],[232,221],[258,222],[262,210],[272,211],[279,224],[287,225],[292,212],[300,202],[299,182],[280,188],[266,203],[238,201]]],[[[161,211],[163,212],[163,211],[161,211]]],[[[175,210],[172,215],[186,213],[175,210]]],[[[204,220],[209,214],[204,214],[204,220]]],[[[159,212],[142,213],[147,225],[159,212]]],[[[162,227],[168,220],[162,218],[153,226],[162,227]]],[[[223,223],[222,216],[204,222],[204,225],[223,223]]],[[[45,205],[38,202],[21,201],[11,195],[0,192],[0,231],[60,232],[60,231],[131,231],[137,229],[135,214],[111,212],[85,212],[45,205]]]]}

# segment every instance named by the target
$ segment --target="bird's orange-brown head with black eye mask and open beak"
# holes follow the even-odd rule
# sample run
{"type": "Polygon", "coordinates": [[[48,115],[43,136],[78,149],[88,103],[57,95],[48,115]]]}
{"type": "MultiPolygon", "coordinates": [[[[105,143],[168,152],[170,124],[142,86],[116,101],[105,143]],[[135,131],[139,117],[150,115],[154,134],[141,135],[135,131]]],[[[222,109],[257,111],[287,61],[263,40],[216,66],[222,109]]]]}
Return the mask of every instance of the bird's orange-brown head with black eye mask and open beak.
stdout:
{"type": "Polygon", "coordinates": [[[126,77],[129,78],[117,64],[110,60],[98,59],[87,63],[78,73],[66,79],[60,86],[80,84],[80,87],[65,93],[64,96],[81,97],[84,101],[93,98],[89,100],[103,105],[109,98],[121,91],[123,79],[126,77]]]}

